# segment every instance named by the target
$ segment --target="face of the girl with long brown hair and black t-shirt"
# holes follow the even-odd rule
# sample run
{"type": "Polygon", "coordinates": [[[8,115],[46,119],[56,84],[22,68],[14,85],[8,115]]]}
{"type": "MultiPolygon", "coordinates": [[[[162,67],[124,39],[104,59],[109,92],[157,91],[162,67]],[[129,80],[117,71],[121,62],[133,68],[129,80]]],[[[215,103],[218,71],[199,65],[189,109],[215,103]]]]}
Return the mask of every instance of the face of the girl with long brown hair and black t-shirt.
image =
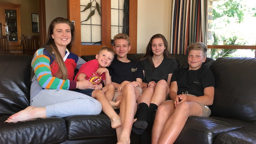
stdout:
{"type": "Polygon", "coordinates": [[[155,56],[163,55],[165,49],[166,48],[162,38],[152,39],[151,50],[153,52],[153,55],[155,56]]]}

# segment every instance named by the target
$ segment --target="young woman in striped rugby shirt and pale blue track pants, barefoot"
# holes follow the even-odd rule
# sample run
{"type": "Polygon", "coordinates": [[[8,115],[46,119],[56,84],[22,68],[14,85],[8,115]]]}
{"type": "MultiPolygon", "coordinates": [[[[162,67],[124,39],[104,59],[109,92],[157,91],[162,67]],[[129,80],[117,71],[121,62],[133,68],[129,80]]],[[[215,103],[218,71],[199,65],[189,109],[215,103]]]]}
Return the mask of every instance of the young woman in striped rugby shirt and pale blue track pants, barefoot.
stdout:
{"type": "Polygon", "coordinates": [[[6,122],[31,118],[96,115],[102,106],[96,99],[70,89],[94,89],[86,80],[73,81],[74,70],[85,61],[70,53],[75,27],[65,18],[55,18],[49,26],[45,44],[34,54],[30,105],[11,115],[6,122]]]}

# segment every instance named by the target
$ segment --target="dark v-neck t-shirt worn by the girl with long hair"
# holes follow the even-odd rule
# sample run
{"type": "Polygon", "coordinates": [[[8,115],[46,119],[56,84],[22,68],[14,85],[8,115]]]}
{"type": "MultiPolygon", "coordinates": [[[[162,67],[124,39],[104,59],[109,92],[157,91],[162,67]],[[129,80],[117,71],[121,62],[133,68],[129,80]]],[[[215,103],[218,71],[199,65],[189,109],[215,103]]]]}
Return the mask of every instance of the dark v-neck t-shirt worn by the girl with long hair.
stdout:
{"type": "Polygon", "coordinates": [[[145,83],[159,80],[167,81],[168,74],[174,72],[178,68],[177,61],[174,58],[165,58],[162,63],[153,69],[152,65],[147,59],[141,61],[142,69],[145,71],[145,83]]]}

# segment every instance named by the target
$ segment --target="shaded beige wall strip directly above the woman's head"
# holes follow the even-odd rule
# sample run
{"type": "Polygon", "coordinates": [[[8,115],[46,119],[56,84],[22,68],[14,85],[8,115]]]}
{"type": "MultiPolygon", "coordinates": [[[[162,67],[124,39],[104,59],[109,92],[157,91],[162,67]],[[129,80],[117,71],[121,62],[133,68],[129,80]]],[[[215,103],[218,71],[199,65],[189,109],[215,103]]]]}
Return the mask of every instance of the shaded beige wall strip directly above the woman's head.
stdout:
{"type": "Polygon", "coordinates": [[[45,0],[45,24],[46,34],[50,22],[57,17],[67,18],[67,1],[66,0],[45,0]]]}

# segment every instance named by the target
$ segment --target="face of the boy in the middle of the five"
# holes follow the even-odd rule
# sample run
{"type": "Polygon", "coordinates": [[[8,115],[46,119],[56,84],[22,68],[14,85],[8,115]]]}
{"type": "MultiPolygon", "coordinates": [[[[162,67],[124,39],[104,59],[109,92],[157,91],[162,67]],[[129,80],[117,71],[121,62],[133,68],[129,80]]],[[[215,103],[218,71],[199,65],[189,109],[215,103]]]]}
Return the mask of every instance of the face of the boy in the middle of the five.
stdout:
{"type": "Polygon", "coordinates": [[[116,39],[113,49],[118,57],[124,58],[127,56],[127,53],[131,49],[131,46],[129,45],[129,42],[125,39],[116,39]]]}

